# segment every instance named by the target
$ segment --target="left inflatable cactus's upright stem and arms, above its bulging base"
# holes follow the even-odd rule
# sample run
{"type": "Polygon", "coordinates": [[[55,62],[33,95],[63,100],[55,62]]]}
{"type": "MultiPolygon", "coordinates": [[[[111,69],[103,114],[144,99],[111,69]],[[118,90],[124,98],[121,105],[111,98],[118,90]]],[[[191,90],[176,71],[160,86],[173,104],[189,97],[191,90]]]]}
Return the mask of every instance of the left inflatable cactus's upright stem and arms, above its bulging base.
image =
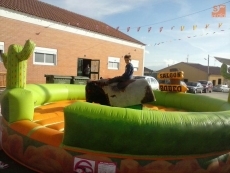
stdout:
{"type": "Polygon", "coordinates": [[[26,85],[27,59],[34,51],[35,43],[27,40],[24,47],[10,45],[8,52],[2,54],[6,75],[6,88],[24,88],[26,85]]]}

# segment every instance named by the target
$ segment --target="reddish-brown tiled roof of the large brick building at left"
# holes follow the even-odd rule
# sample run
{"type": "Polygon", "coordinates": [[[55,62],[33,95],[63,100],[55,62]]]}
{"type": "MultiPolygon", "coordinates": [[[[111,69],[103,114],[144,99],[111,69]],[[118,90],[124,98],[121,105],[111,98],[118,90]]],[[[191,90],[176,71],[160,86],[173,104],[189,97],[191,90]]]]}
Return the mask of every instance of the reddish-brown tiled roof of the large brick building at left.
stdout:
{"type": "Polygon", "coordinates": [[[79,29],[89,30],[95,33],[107,35],[132,43],[145,45],[144,43],[124,34],[123,32],[92,18],[73,13],[71,11],[55,7],[38,0],[0,0],[0,7],[29,14],[39,18],[63,23],[79,29]]]}

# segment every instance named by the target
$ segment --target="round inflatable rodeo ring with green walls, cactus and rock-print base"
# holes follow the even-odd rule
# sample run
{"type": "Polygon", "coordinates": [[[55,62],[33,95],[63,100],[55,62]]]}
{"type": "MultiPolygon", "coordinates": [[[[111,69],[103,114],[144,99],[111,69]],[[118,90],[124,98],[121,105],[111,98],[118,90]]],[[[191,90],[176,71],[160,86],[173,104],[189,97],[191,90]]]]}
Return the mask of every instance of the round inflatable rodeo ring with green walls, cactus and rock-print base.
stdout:
{"type": "MultiPolygon", "coordinates": [[[[230,172],[229,99],[154,91],[156,101],[149,104],[183,112],[87,103],[84,85],[26,85],[34,47],[28,40],[3,55],[2,141],[11,158],[38,172],[230,172]],[[63,110],[63,130],[36,124],[35,109],[65,100],[72,103],[63,110]]],[[[227,65],[221,72],[229,78],[227,65]]]]}

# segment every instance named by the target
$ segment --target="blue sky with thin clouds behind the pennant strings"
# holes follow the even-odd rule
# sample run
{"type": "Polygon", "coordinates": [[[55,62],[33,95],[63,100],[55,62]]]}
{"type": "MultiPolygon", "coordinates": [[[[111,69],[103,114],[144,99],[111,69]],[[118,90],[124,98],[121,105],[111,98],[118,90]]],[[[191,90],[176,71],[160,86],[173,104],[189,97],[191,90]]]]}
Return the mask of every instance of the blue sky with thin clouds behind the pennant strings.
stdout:
{"type": "Polygon", "coordinates": [[[119,27],[145,43],[144,66],[153,70],[179,62],[208,65],[208,55],[210,66],[221,65],[214,56],[230,59],[228,0],[41,1],[119,27]],[[220,4],[225,5],[226,16],[212,17],[214,6],[220,4]]]}

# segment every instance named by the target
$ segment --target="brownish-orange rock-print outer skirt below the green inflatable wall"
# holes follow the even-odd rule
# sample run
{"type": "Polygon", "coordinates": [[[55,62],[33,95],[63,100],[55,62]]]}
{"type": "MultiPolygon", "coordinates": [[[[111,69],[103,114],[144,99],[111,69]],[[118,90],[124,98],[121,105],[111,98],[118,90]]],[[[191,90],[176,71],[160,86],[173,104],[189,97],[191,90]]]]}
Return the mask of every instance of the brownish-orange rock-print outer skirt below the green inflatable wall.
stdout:
{"type": "MultiPolygon", "coordinates": [[[[212,173],[230,171],[230,153],[195,156],[133,156],[90,151],[69,146],[51,146],[3,126],[3,150],[11,158],[38,172],[74,172],[76,160],[115,165],[114,173],[212,173]]],[[[179,148],[178,148],[179,149],[179,148]]],[[[102,169],[102,168],[100,168],[102,169]]]]}

